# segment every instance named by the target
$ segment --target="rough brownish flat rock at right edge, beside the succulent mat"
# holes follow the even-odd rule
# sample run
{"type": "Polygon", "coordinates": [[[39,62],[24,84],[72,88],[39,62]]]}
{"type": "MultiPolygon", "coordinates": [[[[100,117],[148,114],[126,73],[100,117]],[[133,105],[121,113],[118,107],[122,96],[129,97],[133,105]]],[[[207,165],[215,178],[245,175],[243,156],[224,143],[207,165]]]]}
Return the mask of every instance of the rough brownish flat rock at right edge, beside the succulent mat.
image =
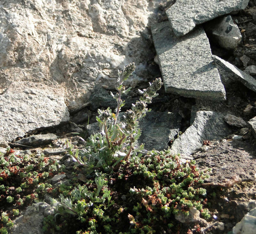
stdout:
{"type": "Polygon", "coordinates": [[[256,173],[256,149],[249,142],[233,140],[220,143],[206,152],[194,155],[200,170],[212,169],[207,183],[227,183],[239,179],[254,181],[256,173]]]}

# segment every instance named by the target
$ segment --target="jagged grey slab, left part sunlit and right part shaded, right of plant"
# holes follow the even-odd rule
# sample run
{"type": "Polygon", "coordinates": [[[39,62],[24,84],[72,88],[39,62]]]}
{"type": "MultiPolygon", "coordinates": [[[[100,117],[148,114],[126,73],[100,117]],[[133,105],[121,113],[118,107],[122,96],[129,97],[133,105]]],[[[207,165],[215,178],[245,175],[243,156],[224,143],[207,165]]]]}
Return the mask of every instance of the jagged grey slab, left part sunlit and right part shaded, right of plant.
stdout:
{"type": "Polygon", "coordinates": [[[204,140],[220,140],[231,133],[231,128],[224,121],[224,114],[214,111],[197,111],[192,114],[192,125],[173,141],[173,154],[190,155],[202,146],[204,140]]]}

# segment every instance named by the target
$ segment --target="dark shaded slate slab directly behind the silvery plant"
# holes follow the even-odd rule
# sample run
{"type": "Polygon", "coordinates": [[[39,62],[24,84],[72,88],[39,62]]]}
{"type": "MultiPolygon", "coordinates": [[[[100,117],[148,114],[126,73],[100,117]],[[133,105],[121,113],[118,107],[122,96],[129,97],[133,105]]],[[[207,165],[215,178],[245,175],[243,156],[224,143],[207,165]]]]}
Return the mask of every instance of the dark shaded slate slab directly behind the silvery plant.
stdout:
{"type": "MultiPolygon", "coordinates": [[[[139,121],[141,136],[138,145],[145,143],[144,149],[163,150],[168,148],[169,140],[179,132],[181,117],[177,113],[150,111],[139,121]]],[[[87,132],[99,132],[98,123],[86,126],[87,132]]]]}

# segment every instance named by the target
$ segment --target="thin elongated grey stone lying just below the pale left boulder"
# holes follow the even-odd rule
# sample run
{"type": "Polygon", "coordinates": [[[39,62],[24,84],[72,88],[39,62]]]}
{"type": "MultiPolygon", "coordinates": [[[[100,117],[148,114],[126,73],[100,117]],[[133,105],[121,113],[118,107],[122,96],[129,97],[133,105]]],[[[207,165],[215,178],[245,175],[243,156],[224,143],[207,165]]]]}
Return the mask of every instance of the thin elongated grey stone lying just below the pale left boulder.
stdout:
{"type": "Polygon", "coordinates": [[[32,135],[30,137],[22,138],[14,143],[24,146],[40,146],[51,144],[53,140],[56,140],[57,136],[52,133],[32,135]]]}

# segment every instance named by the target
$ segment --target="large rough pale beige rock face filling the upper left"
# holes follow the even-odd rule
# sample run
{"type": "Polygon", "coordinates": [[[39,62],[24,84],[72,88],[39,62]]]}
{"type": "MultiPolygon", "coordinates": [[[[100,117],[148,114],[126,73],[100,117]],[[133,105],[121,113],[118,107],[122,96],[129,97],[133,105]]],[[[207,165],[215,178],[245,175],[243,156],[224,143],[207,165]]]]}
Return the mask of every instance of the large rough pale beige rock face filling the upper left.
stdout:
{"type": "Polygon", "coordinates": [[[129,62],[137,67],[130,83],[152,76],[147,26],[156,22],[159,2],[1,1],[0,89],[13,81],[42,82],[61,89],[73,109],[95,83],[114,84],[116,68],[129,62]]]}

